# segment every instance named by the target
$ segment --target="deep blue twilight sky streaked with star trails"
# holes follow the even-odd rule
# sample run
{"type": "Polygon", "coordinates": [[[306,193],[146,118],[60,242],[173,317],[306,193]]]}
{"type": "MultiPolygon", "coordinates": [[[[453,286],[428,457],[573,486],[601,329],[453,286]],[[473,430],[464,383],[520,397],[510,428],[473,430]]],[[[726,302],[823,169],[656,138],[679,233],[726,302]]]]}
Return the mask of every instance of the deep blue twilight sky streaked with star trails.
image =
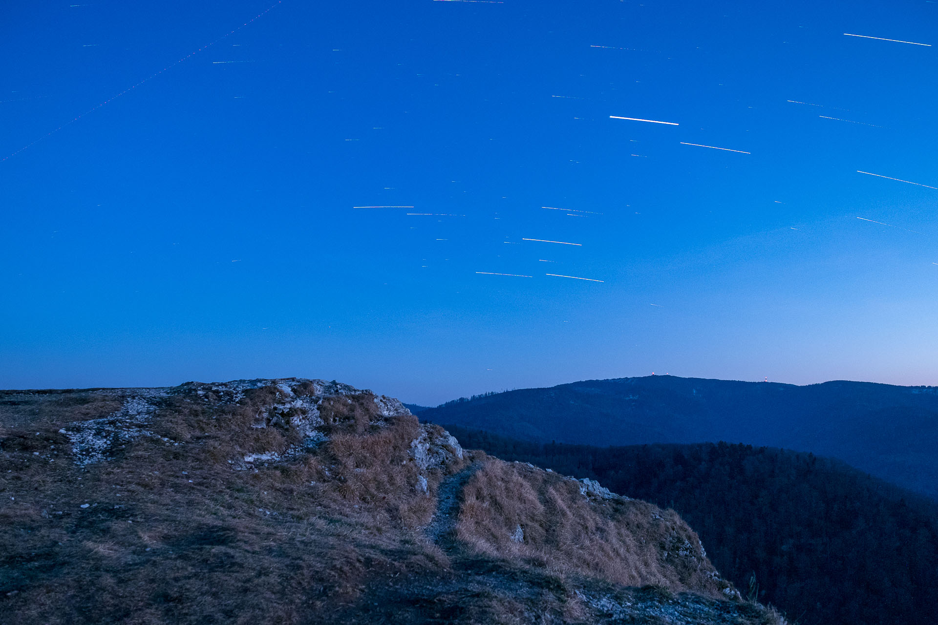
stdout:
{"type": "Polygon", "coordinates": [[[5,4],[0,387],[938,381],[938,3],[268,7],[5,4]]]}

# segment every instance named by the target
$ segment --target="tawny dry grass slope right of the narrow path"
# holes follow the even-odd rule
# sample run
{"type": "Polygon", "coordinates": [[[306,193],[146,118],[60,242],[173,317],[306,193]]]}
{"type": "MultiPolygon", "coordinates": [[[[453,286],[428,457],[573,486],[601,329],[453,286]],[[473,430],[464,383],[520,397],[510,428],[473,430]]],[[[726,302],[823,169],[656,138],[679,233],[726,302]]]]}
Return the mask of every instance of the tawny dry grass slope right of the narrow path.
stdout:
{"type": "Polygon", "coordinates": [[[729,586],[714,580],[700,540],[672,510],[635,499],[591,502],[572,480],[494,458],[466,484],[463,498],[458,536],[482,553],[626,586],[712,596],[729,586]],[[520,543],[512,540],[518,527],[520,543]]]}

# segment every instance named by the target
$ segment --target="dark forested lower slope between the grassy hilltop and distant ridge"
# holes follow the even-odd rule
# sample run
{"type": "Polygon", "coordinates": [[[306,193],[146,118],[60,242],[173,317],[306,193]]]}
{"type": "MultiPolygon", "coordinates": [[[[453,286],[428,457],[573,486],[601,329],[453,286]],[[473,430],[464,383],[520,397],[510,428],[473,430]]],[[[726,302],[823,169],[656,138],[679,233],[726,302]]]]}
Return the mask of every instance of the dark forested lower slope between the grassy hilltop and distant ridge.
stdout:
{"type": "Polygon", "coordinates": [[[673,508],[720,573],[800,625],[938,622],[938,505],[838,460],[743,444],[464,447],[673,508]]]}

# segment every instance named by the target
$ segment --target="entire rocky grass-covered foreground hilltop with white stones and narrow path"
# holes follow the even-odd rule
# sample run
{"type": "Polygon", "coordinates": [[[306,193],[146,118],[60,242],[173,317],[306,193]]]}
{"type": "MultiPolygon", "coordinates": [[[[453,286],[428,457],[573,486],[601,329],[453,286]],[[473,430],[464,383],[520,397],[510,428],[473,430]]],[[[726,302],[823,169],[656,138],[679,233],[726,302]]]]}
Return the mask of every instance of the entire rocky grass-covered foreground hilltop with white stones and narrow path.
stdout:
{"type": "Polygon", "coordinates": [[[781,623],[672,510],[338,382],[0,393],[17,623],[781,623]]]}

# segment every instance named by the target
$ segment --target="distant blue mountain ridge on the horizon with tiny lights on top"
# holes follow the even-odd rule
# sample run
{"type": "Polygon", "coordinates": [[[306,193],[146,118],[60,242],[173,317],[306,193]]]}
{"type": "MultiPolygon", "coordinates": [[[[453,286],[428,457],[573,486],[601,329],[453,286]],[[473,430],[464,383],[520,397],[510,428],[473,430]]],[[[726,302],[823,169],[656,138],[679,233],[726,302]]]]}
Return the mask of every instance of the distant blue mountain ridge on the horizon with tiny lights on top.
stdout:
{"type": "Polygon", "coordinates": [[[508,391],[419,415],[536,442],[725,440],[812,452],[938,499],[938,387],[648,376],[508,391]]]}

